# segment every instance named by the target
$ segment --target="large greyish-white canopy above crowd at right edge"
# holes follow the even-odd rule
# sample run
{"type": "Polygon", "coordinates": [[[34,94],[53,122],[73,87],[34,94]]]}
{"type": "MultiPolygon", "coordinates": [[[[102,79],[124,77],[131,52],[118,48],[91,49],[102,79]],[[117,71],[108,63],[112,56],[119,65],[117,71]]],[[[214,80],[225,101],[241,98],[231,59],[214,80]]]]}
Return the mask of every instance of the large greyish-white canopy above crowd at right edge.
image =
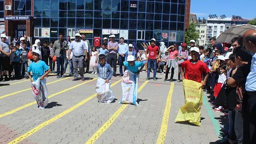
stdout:
{"type": "Polygon", "coordinates": [[[218,36],[217,42],[218,43],[230,43],[231,40],[235,37],[243,36],[244,32],[247,30],[256,30],[256,26],[253,25],[237,25],[230,27],[229,29],[222,32],[221,35],[218,36]]]}

